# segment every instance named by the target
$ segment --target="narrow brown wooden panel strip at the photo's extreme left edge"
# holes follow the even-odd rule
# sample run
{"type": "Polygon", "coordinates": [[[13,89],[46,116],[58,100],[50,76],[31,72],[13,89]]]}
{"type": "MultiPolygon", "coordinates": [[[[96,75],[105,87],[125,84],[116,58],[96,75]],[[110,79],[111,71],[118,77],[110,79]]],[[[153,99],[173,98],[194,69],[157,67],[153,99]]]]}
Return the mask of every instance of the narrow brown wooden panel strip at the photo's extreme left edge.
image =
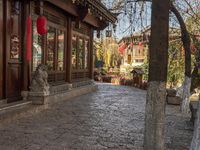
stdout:
{"type": "Polygon", "coordinates": [[[0,0],[0,99],[3,98],[3,0],[0,0]]]}

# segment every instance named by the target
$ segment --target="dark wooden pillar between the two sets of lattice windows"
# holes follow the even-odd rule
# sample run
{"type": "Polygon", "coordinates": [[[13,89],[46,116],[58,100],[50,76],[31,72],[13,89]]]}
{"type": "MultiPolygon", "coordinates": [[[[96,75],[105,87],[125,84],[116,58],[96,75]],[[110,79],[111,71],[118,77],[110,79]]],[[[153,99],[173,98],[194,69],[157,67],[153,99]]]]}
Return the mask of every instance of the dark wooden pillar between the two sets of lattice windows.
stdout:
{"type": "Polygon", "coordinates": [[[67,46],[66,46],[66,79],[67,82],[72,82],[72,21],[67,20],[67,46]]]}

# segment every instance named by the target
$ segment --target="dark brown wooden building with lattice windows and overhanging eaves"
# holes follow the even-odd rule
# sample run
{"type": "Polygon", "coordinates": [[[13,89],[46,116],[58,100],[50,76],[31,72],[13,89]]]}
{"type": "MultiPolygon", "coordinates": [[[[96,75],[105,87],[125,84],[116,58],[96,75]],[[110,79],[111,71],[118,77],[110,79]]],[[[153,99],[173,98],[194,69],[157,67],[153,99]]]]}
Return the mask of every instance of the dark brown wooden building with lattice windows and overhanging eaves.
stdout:
{"type": "Polygon", "coordinates": [[[115,21],[99,0],[0,0],[0,103],[20,100],[39,64],[48,67],[51,86],[93,79],[93,33],[115,21]],[[31,61],[26,59],[29,16],[31,61]],[[44,35],[37,33],[39,16],[47,19],[44,35]]]}

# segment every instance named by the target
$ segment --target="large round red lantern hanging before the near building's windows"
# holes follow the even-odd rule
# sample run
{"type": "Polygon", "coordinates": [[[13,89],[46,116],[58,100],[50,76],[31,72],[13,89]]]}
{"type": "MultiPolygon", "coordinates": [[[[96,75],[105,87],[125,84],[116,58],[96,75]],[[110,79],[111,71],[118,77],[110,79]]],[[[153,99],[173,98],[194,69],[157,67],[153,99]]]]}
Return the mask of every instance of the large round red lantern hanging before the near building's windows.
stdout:
{"type": "Polygon", "coordinates": [[[47,19],[44,16],[39,16],[37,18],[37,32],[40,35],[47,33],[47,19]]]}

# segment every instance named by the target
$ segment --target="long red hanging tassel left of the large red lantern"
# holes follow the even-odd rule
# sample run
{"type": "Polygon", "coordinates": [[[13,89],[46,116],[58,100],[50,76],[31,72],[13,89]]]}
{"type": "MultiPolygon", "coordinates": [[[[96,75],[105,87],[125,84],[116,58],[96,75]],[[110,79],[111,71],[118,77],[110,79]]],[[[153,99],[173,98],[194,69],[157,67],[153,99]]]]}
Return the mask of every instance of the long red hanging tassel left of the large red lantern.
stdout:
{"type": "Polygon", "coordinates": [[[32,37],[32,20],[29,16],[26,20],[26,60],[31,61],[31,37],[32,37]]]}

